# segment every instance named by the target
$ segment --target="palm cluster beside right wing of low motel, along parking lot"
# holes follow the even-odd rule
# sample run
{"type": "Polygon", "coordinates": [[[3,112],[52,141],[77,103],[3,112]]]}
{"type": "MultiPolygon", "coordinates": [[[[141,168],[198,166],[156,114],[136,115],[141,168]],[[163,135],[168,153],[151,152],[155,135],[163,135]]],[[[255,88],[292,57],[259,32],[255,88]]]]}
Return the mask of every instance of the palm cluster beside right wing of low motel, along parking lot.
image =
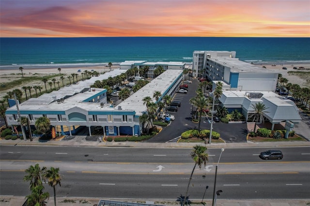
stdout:
{"type": "Polygon", "coordinates": [[[166,108],[172,101],[170,95],[166,95],[159,101],[161,97],[160,91],[154,91],[153,98],[155,98],[155,102],[150,96],[146,96],[142,99],[143,105],[146,105],[146,112],[140,116],[139,120],[142,124],[142,131],[144,133],[149,133],[150,128],[153,128],[153,122],[156,118],[158,118],[161,114],[161,110],[166,108]]]}

